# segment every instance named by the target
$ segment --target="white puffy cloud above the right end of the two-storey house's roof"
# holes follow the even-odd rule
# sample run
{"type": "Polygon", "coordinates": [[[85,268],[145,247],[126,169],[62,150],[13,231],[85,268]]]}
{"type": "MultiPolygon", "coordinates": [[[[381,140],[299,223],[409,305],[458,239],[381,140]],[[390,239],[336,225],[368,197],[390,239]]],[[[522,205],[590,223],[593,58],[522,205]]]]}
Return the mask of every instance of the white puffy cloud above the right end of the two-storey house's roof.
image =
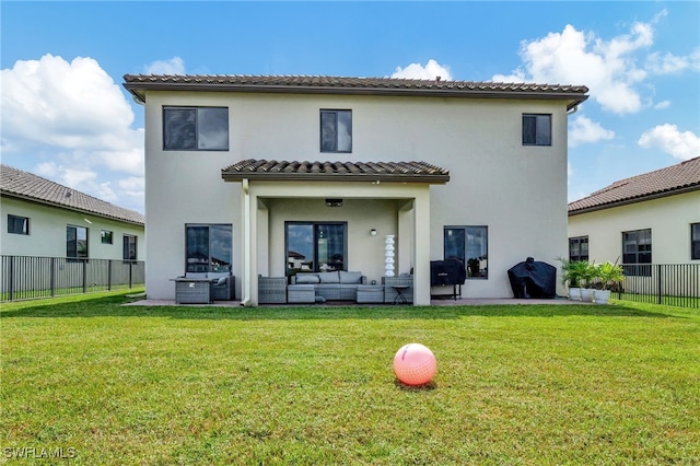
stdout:
{"type": "MultiPolygon", "coordinates": [[[[662,58],[654,54],[648,60],[650,70],[638,66],[643,58],[641,55],[654,43],[653,25],[665,14],[664,10],[649,23],[634,23],[628,34],[609,40],[592,32],[578,31],[572,25],[567,25],[561,33],[524,40],[520,53],[523,66],[511,74],[495,74],[492,79],[583,84],[588,86],[591,97],[604,109],[620,115],[637,113],[645,102],[638,86],[648,79],[650,71],[670,72],[684,68],[673,56],[662,58]]],[[[690,58],[684,60],[692,62],[690,58]]]]}

